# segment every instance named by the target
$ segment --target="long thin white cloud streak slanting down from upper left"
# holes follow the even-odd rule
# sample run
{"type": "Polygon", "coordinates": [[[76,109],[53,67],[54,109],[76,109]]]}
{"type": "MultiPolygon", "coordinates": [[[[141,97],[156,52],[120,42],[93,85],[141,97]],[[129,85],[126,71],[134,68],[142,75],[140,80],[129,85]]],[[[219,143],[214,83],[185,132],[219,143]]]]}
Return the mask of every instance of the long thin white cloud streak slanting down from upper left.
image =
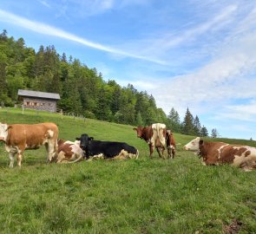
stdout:
{"type": "Polygon", "coordinates": [[[148,61],[148,62],[165,64],[164,61],[154,59],[153,57],[135,55],[135,54],[131,54],[127,51],[123,51],[120,49],[115,49],[115,48],[111,48],[111,47],[102,45],[97,42],[90,42],[89,40],[87,40],[85,38],[75,36],[73,34],[70,34],[69,32],[62,30],[62,29],[56,29],[55,27],[49,26],[44,23],[30,21],[29,19],[26,19],[21,16],[16,16],[16,15],[14,15],[10,12],[4,11],[4,10],[0,10],[0,21],[12,23],[12,24],[18,25],[25,29],[30,29],[32,31],[35,31],[36,33],[40,33],[43,35],[57,36],[57,37],[61,37],[63,39],[69,40],[69,41],[78,42],[78,43],[81,43],[82,45],[88,46],[93,49],[99,49],[99,50],[108,52],[110,54],[121,55],[124,57],[132,57],[132,58],[136,58],[136,59],[140,59],[140,60],[144,60],[144,61],[148,61]]]}

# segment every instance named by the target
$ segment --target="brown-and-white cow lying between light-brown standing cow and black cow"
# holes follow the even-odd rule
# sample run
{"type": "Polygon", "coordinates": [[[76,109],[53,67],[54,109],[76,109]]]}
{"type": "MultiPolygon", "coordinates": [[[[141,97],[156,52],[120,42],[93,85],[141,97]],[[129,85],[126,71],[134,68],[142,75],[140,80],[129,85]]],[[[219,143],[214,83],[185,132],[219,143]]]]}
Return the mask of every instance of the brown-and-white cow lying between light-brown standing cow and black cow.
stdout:
{"type": "Polygon", "coordinates": [[[57,140],[58,152],[55,159],[56,163],[75,163],[84,158],[80,142],[72,142],[69,140],[57,140]]]}

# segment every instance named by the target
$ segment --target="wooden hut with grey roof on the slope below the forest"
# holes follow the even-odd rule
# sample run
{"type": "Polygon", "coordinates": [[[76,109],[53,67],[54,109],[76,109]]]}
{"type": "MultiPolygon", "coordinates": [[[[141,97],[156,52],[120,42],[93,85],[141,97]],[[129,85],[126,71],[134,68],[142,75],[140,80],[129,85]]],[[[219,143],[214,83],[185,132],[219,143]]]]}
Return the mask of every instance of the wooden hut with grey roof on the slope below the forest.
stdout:
{"type": "Polygon", "coordinates": [[[60,94],[18,89],[18,99],[25,108],[56,112],[57,101],[61,98],[60,94]]]}

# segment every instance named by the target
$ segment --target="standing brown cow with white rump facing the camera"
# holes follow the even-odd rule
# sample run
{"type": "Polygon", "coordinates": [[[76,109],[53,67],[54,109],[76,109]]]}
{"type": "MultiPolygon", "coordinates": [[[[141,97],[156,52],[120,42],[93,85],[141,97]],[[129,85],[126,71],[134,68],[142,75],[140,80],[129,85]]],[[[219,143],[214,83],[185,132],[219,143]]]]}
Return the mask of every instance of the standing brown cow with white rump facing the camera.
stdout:
{"type": "Polygon", "coordinates": [[[148,127],[134,127],[133,130],[136,131],[138,138],[148,143],[150,159],[152,159],[154,148],[156,148],[159,157],[163,158],[167,135],[167,127],[165,124],[155,123],[148,127]]]}

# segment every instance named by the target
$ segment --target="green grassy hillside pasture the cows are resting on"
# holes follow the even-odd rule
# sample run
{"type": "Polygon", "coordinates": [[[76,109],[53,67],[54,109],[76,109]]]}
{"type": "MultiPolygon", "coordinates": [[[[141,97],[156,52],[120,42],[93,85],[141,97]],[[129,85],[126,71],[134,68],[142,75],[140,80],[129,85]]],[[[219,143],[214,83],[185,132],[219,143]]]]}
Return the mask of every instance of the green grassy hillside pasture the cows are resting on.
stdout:
{"type": "MultiPolygon", "coordinates": [[[[149,159],[148,145],[132,126],[12,108],[0,109],[0,121],[52,121],[62,139],[88,133],[140,151],[137,160],[47,165],[41,148],[25,151],[22,168],[10,169],[0,143],[1,233],[223,233],[233,226],[256,233],[256,171],[202,166],[182,150],[193,136],[174,133],[181,143],[174,160],[156,152],[149,159]]],[[[255,146],[249,140],[222,141],[255,146]]]]}

